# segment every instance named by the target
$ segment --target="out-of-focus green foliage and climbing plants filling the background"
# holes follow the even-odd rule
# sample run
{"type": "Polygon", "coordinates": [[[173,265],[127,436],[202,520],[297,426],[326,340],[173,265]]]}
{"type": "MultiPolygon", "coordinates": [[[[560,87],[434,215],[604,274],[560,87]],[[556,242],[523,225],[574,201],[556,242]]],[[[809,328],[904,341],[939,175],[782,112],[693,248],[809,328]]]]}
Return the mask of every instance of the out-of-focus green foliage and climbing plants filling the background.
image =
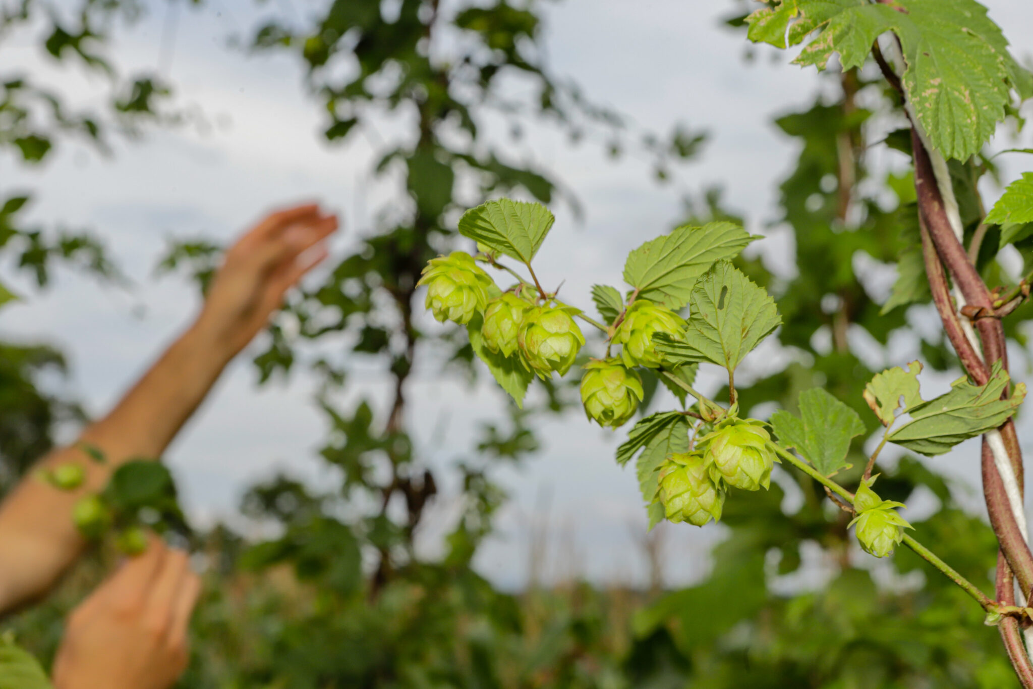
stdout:
{"type": "MultiPolygon", "coordinates": [[[[480,138],[474,114],[494,106],[495,80],[506,71],[524,72],[536,84],[535,98],[524,103],[527,117],[570,130],[620,132],[655,158],[660,177],[674,160],[694,155],[700,139],[680,130],[668,138],[638,140],[617,114],[557,82],[538,57],[540,9],[534,4],[489,2],[447,13],[439,13],[436,0],[399,4],[397,18],[388,21],[378,2],[327,1],[311,23],[272,22],[253,37],[254,50],[285,51],[306,66],[327,113],[328,140],[354,136],[374,109],[417,117],[410,144],[383,152],[373,170],[404,170],[406,193],[396,199],[396,212],[382,214],[379,233],[343,257],[325,284],[287,307],[306,340],[346,332],[357,335],[354,347],[337,358],[314,357],[274,327],[271,348],[255,359],[263,381],[302,367],[321,376],[321,408],[333,433],[320,453],[343,470],[344,483],[326,493],[287,477],[255,487],[242,509],[278,523],[282,536],[275,540],[245,542],[223,528],[193,534],[194,546],[210,563],[209,586],[194,621],[194,659],[183,686],[1016,686],[997,632],[982,625],[980,610],[961,591],[905,551],[873,576],[871,560],[847,533],[849,514],[832,507],[806,477],[788,472],[779,474],[769,492],[729,498],[723,516],[727,537],[696,586],[631,591],[572,584],[518,594],[497,591],[470,566],[505,499],[493,476],[536,448],[536,419],[570,404],[570,390],[559,385],[550,387],[543,404],[512,407],[505,430],[484,430],[476,451],[467,452],[474,459],[457,465],[465,511],[446,536],[444,556],[416,557],[413,532],[438,479],[404,424],[406,379],[428,351],[446,351],[457,375],[483,375],[473,367],[461,332],[431,336],[414,326],[419,271],[457,243],[458,210],[501,193],[545,203],[562,195],[546,171],[504,162],[505,152],[491,150],[480,138]],[[469,51],[449,61],[426,49],[435,32],[446,30],[470,38],[469,51]],[[342,81],[333,69],[339,60],[357,64],[356,74],[342,81]],[[381,81],[386,89],[369,86],[368,77],[378,74],[390,76],[381,81]],[[461,195],[461,183],[474,188],[476,197],[461,195]],[[395,382],[384,418],[367,403],[341,409],[331,402],[330,393],[345,384],[349,367],[368,358],[385,363],[395,382]],[[787,500],[787,490],[800,499],[787,500]],[[394,499],[405,505],[401,520],[388,518],[386,505],[394,499]],[[350,509],[342,509],[345,504],[350,509]],[[805,559],[827,563],[827,583],[792,593],[800,590],[791,586],[793,574],[813,566],[805,566],[805,559]]],[[[44,17],[44,3],[0,7],[0,40],[30,17],[44,17]]],[[[729,13],[739,8],[729,3],[729,13]]],[[[131,2],[85,1],[82,12],[56,15],[64,19],[53,20],[44,35],[55,60],[83,62],[105,75],[112,96],[102,113],[67,113],[60,98],[0,67],[4,155],[32,165],[66,136],[103,147],[109,136],[135,127],[176,123],[177,115],[163,105],[168,86],[146,74],[125,77],[106,66],[102,27],[113,14],[136,9],[131,2]]],[[[741,18],[732,24],[741,25],[741,18]]],[[[799,356],[778,373],[737,385],[746,411],[775,403],[795,413],[797,394],[820,386],[850,404],[869,429],[877,427],[862,398],[876,372],[851,348],[850,333],[863,330],[886,346],[895,333],[910,327],[905,307],[929,301],[924,279],[914,279],[920,261],[914,261],[913,191],[906,180],[874,178],[868,166],[869,125],[891,118],[895,107],[895,96],[871,67],[858,62],[843,74],[821,76],[828,87],[824,95],[775,122],[800,145],[793,168],[780,181],[782,217],[776,219],[794,233],[797,274],[779,278],[757,258],[739,257],[735,265],[776,297],[783,319],[777,337],[799,356]],[[857,104],[863,93],[864,102],[874,105],[857,104]],[[829,179],[836,184],[825,183],[829,179]],[[904,267],[889,303],[876,303],[858,280],[852,260],[858,252],[904,267]],[[818,333],[829,336],[831,346],[817,344],[818,333]]],[[[887,139],[906,147],[902,140],[887,139]]],[[[980,220],[975,183],[995,173],[993,162],[976,155],[951,165],[958,195],[967,201],[963,211],[971,236],[980,220]]],[[[56,262],[119,279],[99,242],[87,233],[25,227],[20,214],[29,198],[6,192],[0,187],[0,248],[40,286],[56,262]]],[[[716,193],[688,215],[693,223],[735,219],[716,193]]],[[[979,254],[979,268],[994,284],[1004,281],[993,250],[1000,239],[995,233],[988,233],[979,254]]],[[[1021,232],[1014,237],[1029,262],[1033,240],[1021,232]]],[[[214,245],[183,245],[163,265],[188,270],[204,284],[217,252],[214,245]]],[[[1013,320],[1028,317],[1029,309],[1022,308],[1013,320]]],[[[922,340],[921,346],[929,365],[956,367],[942,339],[922,340]]],[[[3,345],[0,353],[2,491],[50,447],[55,424],[79,412],[36,385],[42,370],[63,366],[58,352],[3,345]]],[[[854,440],[848,457],[854,468],[847,471],[857,475],[863,439],[854,440]]],[[[917,533],[990,590],[994,536],[961,507],[958,489],[929,466],[904,457],[880,479],[880,495],[907,502],[915,491],[931,492],[937,506],[913,522],[917,533]]],[[[24,646],[44,659],[53,654],[63,614],[96,582],[106,557],[96,554],[46,604],[5,621],[24,646]]]]}

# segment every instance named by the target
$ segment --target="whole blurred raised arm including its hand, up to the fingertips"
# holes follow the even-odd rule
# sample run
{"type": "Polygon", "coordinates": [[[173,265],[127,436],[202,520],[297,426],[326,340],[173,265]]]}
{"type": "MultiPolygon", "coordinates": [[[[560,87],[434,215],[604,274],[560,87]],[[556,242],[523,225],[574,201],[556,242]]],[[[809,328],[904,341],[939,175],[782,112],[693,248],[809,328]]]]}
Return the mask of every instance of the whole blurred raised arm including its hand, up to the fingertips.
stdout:
{"type": "Polygon", "coordinates": [[[335,216],[303,206],[267,217],[226,254],[197,319],[81,440],[99,447],[105,464],[76,446],[51,452],[48,468],[83,466],[87,480],[66,493],[26,478],[0,505],[0,614],[44,594],[74,562],[84,541],[71,508],[102,488],[120,464],[159,458],[200,405],[226,364],[269,321],[284,293],[326,255],[335,216]]]}

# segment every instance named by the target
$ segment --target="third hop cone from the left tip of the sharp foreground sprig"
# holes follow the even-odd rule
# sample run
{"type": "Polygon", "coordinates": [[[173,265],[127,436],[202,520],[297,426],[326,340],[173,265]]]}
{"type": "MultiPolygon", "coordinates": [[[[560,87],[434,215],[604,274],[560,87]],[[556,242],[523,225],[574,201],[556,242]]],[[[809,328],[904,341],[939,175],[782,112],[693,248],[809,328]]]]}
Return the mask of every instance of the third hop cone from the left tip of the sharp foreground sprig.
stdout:
{"type": "Polygon", "coordinates": [[[570,370],[585,344],[585,336],[574,322],[574,313],[577,309],[563,304],[527,311],[516,342],[521,361],[529,371],[545,379],[553,371],[562,376],[570,370]]]}

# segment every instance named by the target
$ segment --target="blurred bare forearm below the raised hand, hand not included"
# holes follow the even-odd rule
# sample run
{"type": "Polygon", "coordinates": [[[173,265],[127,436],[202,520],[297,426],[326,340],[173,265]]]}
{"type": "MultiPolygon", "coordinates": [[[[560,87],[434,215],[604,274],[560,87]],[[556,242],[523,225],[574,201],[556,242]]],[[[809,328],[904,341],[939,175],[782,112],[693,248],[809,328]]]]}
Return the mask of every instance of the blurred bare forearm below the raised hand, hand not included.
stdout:
{"type": "Polygon", "coordinates": [[[158,459],[204,401],[232,351],[199,320],[184,333],[103,418],[80,437],[104,463],[77,445],[51,452],[39,468],[80,464],[86,481],[59,491],[29,475],[0,505],[0,613],[45,593],[75,560],[84,541],[71,521],[75,501],[103,488],[119,465],[158,459]]]}

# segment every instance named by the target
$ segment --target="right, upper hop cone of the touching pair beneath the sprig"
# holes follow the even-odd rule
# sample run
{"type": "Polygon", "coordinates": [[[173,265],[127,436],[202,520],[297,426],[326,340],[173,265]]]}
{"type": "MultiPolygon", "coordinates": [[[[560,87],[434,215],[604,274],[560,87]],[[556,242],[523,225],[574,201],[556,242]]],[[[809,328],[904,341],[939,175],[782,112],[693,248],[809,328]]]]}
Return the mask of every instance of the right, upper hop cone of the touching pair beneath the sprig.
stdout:
{"type": "Polygon", "coordinates": [[[744,491],[766,490],[778,458],[760,421],[729,418],[700,439],[711,478],[744,491]]]}

